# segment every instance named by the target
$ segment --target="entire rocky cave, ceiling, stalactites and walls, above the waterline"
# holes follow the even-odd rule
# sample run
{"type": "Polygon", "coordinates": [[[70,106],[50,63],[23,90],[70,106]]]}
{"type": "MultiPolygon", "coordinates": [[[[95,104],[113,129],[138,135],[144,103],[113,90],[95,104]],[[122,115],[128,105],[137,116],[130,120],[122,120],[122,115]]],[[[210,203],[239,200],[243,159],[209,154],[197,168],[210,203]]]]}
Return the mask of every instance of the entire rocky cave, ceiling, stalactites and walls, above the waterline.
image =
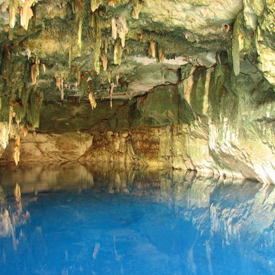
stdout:
{"type": "Polygon", "coordinates": [[[5,0],[0,13],[1,165],[20,139],[22,163],[275,183],[273,1],[5,0]]]}

